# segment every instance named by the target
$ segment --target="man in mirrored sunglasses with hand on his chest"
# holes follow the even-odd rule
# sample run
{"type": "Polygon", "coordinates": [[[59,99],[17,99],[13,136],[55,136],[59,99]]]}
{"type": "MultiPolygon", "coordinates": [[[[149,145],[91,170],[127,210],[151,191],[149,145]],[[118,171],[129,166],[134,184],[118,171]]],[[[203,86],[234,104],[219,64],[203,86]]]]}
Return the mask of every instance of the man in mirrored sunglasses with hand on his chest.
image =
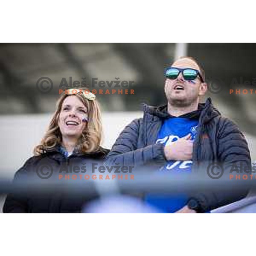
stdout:
{"type": "MultiPolygon", "coordinates": [[[[202,163],[230,166],[236,161],[250,166],[247,142],[238,127],[221,116],[208,98],[204,70],[191,57],[183,57],[164,70],[167,105],[144,106],[144,116],[119,135],[108,163],[157,167],[164,175],[203,170],[202,163]]],[[[225,169],[226,171],[226,169],[225,169]]],[[[227,173],[227,172],[226,172],[227,173]]],[[[247,189],[203,189],[193,195],[145,195],[145,201],[163,212],[196,213],[238,201],[247,189]]]]}

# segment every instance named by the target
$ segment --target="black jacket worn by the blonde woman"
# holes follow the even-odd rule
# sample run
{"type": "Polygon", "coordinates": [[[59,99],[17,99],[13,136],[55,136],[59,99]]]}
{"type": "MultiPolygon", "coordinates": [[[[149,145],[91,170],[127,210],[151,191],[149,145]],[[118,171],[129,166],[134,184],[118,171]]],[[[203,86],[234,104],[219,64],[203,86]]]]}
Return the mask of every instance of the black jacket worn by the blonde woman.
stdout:
{"type": "MultiPolygon", "coordinates": [[[[81,208],[88,200],[86,193],[79,191],[79,186],[88,185],[88,181],[84,179],[84,175],[90,175],[90,167],[92,163],[103,162],[109,150],[100,148],[99,151],[81,154],[73,153],[70,157],[64,157],[57,149],[47,151],[42,156],[34,156],[26,161],[14,177],[14,184],[17,192],[7,195],[3,206],[4,213],[76,213],[81,212],[81,208]],[[77,167],[78,166],[78,167],[77,167]],[[83,172],[82,166],[87,170],[83,172]],[[42,169],[41,169],[42,168],[42,169]],[[79,169],[79,172],[75,170],[79,169]],[[61,171],[60,171],[61,170],[61,171]],[[70,172],[75,170],[75,172],[70,172]],[[43,177],[40,178],[38,174],[43,177]],[[52,175],[50,175],[52,174],[52,175]],[[57,187],[58,184],[63,185],[58,180],[58,175],[70,175],[69,180],[65,180],[65,188],[67,186],[77,186],[77,193],[66,192],[57,187]],[[47,176],[48,175],[48,176],[47,176]],[[72,175],[82,175],[82,180],[72,180],[72,175]],[[73,182],[71,184],[71,182],[73,182]],[[20,193],[18,186],[30,185],[29,189],[20,193]],[[34,188],[32,187],[34,184],[34,188]],[[54,184],[54,186],[49,186],[54,184]],[[57,185],[57,186],[56,186],[57,185]],[[40,186],[40,188],[38,188],[40,186]],[[48,188],[49,186],[49,188],[48,188]],[[56,188],[55,188],[56,186],[56,188]],[[41,189],[41,190],[40,190],[41,189]]],[[[65,177],[65,176],[64,176],[65,177]]]]}

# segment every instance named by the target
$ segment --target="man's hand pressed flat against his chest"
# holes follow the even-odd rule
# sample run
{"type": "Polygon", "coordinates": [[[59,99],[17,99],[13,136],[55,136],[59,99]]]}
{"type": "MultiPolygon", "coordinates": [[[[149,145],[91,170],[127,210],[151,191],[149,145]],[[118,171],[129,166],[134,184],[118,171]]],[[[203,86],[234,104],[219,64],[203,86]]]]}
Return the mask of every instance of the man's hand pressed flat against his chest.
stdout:
{"type": "Polygon", "coordinates": [[[193,141],[191,140],[191,134],[188,134],[164,147],[164,154],[167,160],[192,160],[192,152],[193,141]]]}

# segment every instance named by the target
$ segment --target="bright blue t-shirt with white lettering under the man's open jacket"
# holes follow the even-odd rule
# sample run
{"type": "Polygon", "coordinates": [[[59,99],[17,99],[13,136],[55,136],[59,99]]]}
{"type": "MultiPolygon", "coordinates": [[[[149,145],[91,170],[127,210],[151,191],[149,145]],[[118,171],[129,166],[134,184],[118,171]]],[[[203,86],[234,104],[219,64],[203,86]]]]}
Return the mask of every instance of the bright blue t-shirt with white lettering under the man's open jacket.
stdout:
{"type": "MultiPolygon", "coordinates": [[[[195,140],[197,126],[197,119],[170,117],[164,121],[156,143],[168,145],[188,134],[191,134],[191,140],[195,140]]],[[[158,174],[163,175],[164,173],[164,175],[168,175],[168,173],[172,173],[182,175],[182,173],[190,173],[191,167],[192,160],[168,161],[166,166],[163,166],[163,168],[158,171],[158,174]]],[[[145,201],[163,212],[172,213],[184,207],[188,201],[188,197],[185,194],[175,196],[148,194],[145,196],[145,201]]]]}

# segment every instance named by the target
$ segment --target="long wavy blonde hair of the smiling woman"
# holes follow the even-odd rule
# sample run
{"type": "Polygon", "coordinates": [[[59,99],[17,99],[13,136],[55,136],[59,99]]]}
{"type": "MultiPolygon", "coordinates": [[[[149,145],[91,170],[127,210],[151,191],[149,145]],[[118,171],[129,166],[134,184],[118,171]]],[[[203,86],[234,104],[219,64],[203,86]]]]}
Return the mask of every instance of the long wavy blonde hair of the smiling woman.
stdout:
{"type": "MultiPolygon", "coordinates": [[[[78,89],[79,90],[79,89],[78,89]]],[[[82,93],[73,94],[78,97],[84,106],[87,108],[88,122],[84,131],[78,140],[76,148],[81,153],[97,151],[102,141],[102,121],[99,103],[94,100],[88,100],[82,93]]],[[[61,112],[62,104],[69,94],[63,94],[56,104],[56,111],[47,128],[41,143],[34,148],[33,153],[37,156],[44,154],[46,151],[51,151],[57,145],[61,145],[62,135],[58,126],[58,119],[61,112]]]]}

